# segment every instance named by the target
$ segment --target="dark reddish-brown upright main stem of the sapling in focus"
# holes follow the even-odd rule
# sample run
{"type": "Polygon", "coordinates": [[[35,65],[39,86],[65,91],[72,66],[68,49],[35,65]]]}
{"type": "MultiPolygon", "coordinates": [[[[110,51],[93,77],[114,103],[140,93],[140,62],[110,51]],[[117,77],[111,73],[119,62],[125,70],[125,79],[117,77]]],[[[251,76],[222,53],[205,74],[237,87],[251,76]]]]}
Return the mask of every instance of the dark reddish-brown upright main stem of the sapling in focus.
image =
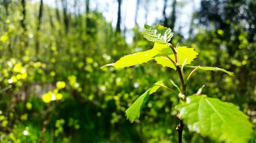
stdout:
{"type": "MultiPolygon", "coordinates": [[[[172,44],[168,44],[168,46],[170,48],[172,48],[173,52],[174,52],[174,56],[175,56],[175,61],[176,61],[176,68],[177,68],[177,71],[178,71],[178,74],[179,74],[179,77],[180,77],[180,81],[181,81],[181,92],[183,95],[185,95],[185,92],[186,92],[186,84],[184,82],[184,79],[183,79],[183,75],[182,75],[182,71],[180,69],[180,66],[179,66],[179,63],[178,63],[178,57],[177,57],[177,52],[176,50],[174,49],[174,46],[172,44]]],[[[182,100],[182,99],[181,99],[182,100]]],[[[179,119],[179,117],[178,117],[179,119]]],[[[182,131],[183,131],[183,127],[184,127],[184,124],[183,124],[183,121],[181,119],[179,119],[180,123],[179,125],[176,127],[176,130],[178,131],[178,134],[179,134],[179,137],[178,137],[178,142],[179,143],[182,143],[182,131]]]]}

